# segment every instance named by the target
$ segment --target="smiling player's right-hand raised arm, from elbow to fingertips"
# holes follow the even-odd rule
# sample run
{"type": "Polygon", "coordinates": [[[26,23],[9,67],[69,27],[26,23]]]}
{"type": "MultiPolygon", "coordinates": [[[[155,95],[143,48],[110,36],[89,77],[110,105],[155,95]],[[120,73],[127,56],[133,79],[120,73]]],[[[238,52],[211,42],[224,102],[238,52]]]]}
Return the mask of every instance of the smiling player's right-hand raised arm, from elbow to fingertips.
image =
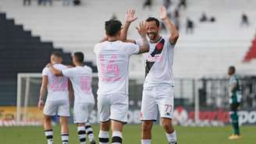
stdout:
{"type": "Polygon", "coordinates": [[[172,23],[171,19],[169,19],[169,17],[167,16],[165,6],[162,6],[160,13],[160,18],[164,21],[165,26],[171,34],[169,37],[169,43],[176,44],[176,41],[179,38],[179,31],[176,29],[176,26],[172,23]]]}

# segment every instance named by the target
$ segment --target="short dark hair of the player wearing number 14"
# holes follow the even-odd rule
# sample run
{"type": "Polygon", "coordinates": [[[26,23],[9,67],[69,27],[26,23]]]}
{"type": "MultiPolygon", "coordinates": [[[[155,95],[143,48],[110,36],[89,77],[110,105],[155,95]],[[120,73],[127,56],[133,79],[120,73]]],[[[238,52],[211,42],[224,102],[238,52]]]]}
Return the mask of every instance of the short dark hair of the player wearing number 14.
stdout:
{"type": "Polygon", "coordinates": [[[116,36],[116,34],[121,30],[122,23],[119,20],[110,19],[105,22],[105,30],[108,36],[116,36]]]}

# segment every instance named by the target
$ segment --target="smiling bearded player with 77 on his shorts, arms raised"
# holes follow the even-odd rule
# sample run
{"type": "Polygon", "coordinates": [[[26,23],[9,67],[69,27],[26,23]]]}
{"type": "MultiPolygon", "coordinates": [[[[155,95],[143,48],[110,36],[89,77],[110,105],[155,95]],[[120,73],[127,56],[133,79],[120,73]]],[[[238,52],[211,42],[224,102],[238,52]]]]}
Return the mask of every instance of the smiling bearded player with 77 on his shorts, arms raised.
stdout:
{"type": "MultiPolygon", "coordinates": [[[[159,35],[160,22],[154,17],[146,19],[150,51],[144,54],[145,81],[141,103],[140,119],[142,120],[141,144],[151,143],[151,129],[157,120],[158,111],[165,129],[169,144],[176,144],[176,132],[172,126],[174,79],[172,74],[173,51],[179,32],[167,16],[165,7],[161,8],[160,18],[168,28],[170,36],[159,35]]],[[[127,31],[125,27],[123,31],[127,31]]],[[[126,36],[126,35],[123,35],[126,36]]],[[[126,40],[126,37],[122,37],[126,40]]],[[[126,40],[141,45],[140,40],[126,40]]]]}

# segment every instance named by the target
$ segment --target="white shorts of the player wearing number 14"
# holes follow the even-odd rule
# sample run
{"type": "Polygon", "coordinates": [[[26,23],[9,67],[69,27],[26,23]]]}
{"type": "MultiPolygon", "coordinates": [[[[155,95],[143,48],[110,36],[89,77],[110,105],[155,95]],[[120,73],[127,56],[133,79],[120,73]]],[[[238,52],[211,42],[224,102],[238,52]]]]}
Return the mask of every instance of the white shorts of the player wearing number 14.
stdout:
{"type": "Polygon", "coordinates": [[[109,120],[121,121],[127,123],[128,117],[128,95],[126,94],[111,94],[98,95],[98,113],[100,121],[109,120]]]}

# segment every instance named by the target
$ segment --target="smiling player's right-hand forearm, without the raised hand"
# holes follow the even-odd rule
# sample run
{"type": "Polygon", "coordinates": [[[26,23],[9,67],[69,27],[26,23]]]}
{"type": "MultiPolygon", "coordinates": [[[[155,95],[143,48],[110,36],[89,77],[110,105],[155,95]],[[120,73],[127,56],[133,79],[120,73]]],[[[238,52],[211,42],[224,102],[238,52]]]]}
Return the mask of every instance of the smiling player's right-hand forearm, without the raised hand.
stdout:
{"type": "Polygon", "coordinates": [[[179,38],[179,31],[176,29],[176,26],[172,23],[171,19],[168,17],[163,19],[165,26],[171,34],[170,40],[172,43],[176,43],[176,40],[179,38]]]}

